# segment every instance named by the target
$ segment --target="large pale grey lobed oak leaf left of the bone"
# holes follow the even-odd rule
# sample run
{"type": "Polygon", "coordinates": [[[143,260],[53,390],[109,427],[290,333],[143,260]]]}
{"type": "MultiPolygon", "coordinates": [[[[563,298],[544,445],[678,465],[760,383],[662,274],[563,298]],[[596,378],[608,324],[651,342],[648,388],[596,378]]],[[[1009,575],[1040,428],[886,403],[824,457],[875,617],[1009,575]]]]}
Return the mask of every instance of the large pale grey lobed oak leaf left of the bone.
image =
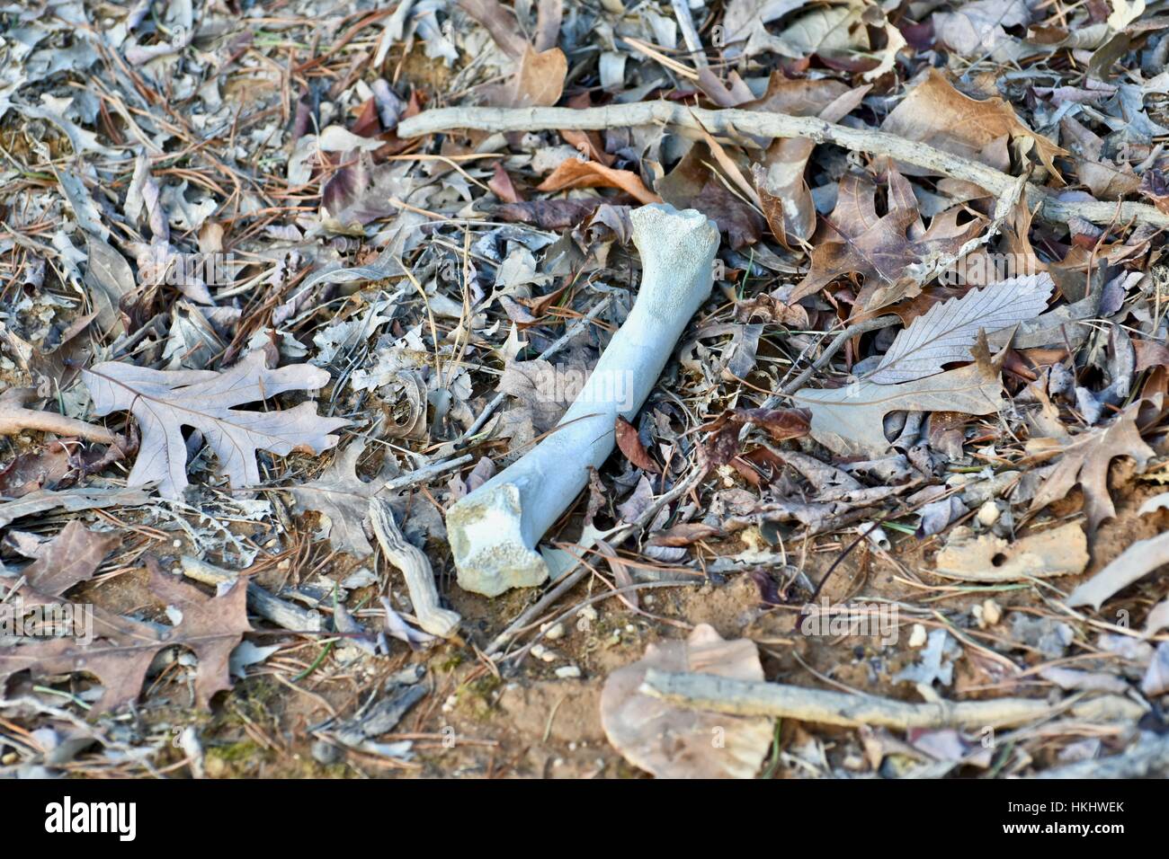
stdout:
{"type": "Polygon", "coordinates": [[[178,498],[187,486],[187,445],[182,427],[200,430],[215,451],[233,486],[260,483],[256,451],[320,453],[334,444],[330,431],[345,427],[339,417],[319,417],[314,403],[284,411],[242,411],[230,407],[254,403],[286,390],[310,390],[328,383],[328,372],[307,363],[269,369],[264,352],[248,353],[230,369],[157,370],[108,361],[84,370],[94,411],[129,411],[138,421],[141,443],[126,483],[158,482],[159,492],[178,498]]]}

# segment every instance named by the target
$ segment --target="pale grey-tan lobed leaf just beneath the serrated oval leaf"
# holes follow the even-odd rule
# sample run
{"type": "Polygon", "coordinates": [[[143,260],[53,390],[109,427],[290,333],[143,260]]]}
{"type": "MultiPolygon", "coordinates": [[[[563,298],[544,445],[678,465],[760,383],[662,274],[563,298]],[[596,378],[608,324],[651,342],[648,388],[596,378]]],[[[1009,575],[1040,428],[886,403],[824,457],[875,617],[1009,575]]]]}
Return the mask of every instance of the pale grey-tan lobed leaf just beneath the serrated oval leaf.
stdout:
{"type": "MultiPolygon", "coordinates": [[[[976,353],[977,354],[977,353],[976,353]]],[[[975,363],[901,385],[857,381],[844,388],[801,388],[791,399],[811,409],[811,436],[841,455],[881,456],[890,448],[890,411],[998,411],[1003,382],[983,354],[975,363]]]]}

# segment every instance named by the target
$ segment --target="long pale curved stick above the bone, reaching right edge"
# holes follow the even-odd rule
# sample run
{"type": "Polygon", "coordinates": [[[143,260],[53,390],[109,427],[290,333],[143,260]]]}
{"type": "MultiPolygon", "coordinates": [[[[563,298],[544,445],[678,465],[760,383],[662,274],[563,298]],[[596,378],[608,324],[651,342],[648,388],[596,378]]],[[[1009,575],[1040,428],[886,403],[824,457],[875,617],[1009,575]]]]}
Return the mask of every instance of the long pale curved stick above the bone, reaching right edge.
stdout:
{"type": "MultiPolygon", "coordinates": [[[[736,140],[755,137],[803,137],[832,143],[853,152],[887,155],[933,173],[962,179],[985,188],[992,196],[1012,193],[1016,176],[984,164],[952,155],[933,146],[881,131],[849,129],[816,117],[793,117],[747,110],[706,110],[672,102],[635,102],[604,108],[440,108],[403,119],[399,137],[419,137],[454,129],[483,131],[601,130],[631,125],[673,125],[694,131],[705,129],[736,140]]],[[[1065,202],[1036,185],[1028,185],[1029,205],[1052,221],[1082,217],[1099,224],[1147,223],[1169,227],[1169,213],[1134,202],[1065,202]]]]}

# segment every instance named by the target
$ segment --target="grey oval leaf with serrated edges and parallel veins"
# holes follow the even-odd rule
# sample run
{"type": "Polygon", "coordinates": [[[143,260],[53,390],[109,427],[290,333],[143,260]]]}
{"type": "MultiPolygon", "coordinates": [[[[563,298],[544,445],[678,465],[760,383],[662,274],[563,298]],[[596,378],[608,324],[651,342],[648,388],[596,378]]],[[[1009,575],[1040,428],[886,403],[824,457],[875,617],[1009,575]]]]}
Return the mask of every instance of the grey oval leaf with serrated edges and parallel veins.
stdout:
{"type": "Polygon", "coordinates": [[[942,372],[942,365],[969,361],[978,332],[991,334],[1038,317],[1053,284],[1046,273],[1015,277],[935,304],[897,335],[869,380],[894,385],[942,372]]]}

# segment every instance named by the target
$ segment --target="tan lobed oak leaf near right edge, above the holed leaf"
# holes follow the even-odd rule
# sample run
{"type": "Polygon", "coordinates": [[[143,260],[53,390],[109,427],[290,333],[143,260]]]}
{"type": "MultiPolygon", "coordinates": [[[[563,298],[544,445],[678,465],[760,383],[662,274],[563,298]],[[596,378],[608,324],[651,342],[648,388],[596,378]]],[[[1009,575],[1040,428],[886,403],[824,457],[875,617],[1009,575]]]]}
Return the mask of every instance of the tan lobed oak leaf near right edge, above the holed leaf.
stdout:
{"type": "Polygon", "coordinates": [[[1141,441],[1136,429],[1136,416],[1143,400],[1130,403],[1106,428],[1093,428],[1071,444],[1063,445],[1063,456],[1054,471],[1031,501],[1031,510],[1042,510],[1052,501],[1066,498],[1075,484],[1084,490],[1084,508],[1088,517],[1088,531],[1095,532],[1105,519],[1116,515],[1116,508],[1108,494],[1108,466],[1118,456],[1130,456],[1137,471],[1153,456],[1153,449],[1141,441]]]}

